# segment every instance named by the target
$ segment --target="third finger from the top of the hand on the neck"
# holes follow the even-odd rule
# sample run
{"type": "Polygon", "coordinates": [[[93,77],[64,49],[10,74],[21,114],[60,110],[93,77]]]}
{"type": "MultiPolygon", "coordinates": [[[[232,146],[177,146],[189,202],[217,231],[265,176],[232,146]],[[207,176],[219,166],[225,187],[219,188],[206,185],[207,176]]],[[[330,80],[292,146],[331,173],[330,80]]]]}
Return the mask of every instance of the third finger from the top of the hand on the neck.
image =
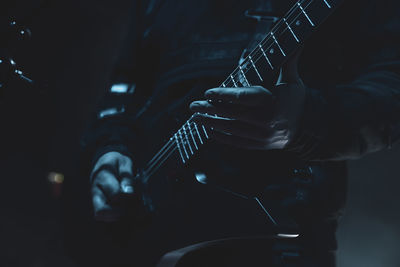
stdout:
{"type": "Polygon", "coordinates": [[[268,127],[259,127],[238,120],[215,117],[201,113],[195,114],[193,119],[212,130],[252,140],[264,140],[270,135],[268,127]]]}

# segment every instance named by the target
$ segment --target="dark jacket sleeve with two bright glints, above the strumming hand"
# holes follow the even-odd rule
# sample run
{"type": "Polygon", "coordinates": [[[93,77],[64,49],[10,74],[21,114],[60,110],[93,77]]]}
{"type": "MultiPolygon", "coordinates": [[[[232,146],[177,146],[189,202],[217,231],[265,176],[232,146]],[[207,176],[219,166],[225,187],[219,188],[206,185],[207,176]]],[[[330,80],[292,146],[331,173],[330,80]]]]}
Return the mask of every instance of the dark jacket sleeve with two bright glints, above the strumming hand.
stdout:
{"type": "MultiPolygon", "coordinates": [[[[146,28],[147,1],[133,1],[131,23],[120,48],[108,90],[100,98],[95,114],[81,138],[82,165],[90,171],[97,159],[110,151],[133,157],[140,127],[133,123],[137,110],[145,103],[150,88],[140,86],[140,57],[146,28]]],[[[148,1],[154,2],[154,1],[148,1]]]]}

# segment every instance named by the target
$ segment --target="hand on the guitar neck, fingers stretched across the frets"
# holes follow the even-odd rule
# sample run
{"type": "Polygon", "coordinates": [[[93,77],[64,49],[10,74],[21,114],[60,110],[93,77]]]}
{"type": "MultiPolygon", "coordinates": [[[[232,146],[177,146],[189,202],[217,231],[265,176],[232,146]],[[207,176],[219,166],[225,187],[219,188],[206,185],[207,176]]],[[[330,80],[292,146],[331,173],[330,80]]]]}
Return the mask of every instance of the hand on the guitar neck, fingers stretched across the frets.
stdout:
{"type": "Polygon", "coordinates": [[[217,141],[246,149],[283,149],[296,134],[304,108],[297,56],[281,70],[272,91],[261,86],[214,88],[190,108],[217,141]]]}

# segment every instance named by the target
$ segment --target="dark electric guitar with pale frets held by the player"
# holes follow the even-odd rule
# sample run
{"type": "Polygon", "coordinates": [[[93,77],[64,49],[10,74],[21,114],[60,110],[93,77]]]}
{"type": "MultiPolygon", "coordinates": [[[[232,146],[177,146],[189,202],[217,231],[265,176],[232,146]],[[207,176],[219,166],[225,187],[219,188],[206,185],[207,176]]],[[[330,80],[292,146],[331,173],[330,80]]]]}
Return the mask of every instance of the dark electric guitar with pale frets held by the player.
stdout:
{"type": "MultiPolygon", "coordinates": [[[[228,75],[220,87],[247,87],[260,83],[272,83],[282,65],[298,51],[316,28],[333,13],[340,2],[341,0],[297,1],[286,15],[275,24],[272,30],[266,34],[266,37],[257,47],[228,75]]],[[[262,201],[263,197],[258,192],[243,194],[242,192],[225,188],[223,185],[213,184],[201,172],[196,173],[194,179],[177,178],[179,175],[177,175],[176,170],[185,170],[183,167],[190,165],[191,160],[209,142],[209,139],[208,129],[196,123],[192,116],[139,171],[137,178],[143,186],[143,200],[148,202],[148,199],[151,199],[151,205],[156,211],[153,223],[141,234],[142,239],[138,238],[139,242],[141,242],[140,240],[148,244],[155,242],[151,241],[151,238],[148,239],[148,235],[152,235],[154,240],[176,238],[177,235],[175,233],[192,223],[194,217],[189,216],[190,218],[188,217],[187,221],[175,221],[174,215],[187,211],[187,203],[182,202],[182,199],[195,197],[187,192],[191,192],[192,187],[199,186],[203,186],[204,194],[210,196],[210,198],[212,198],[212,194],[223,195],[220,197],[221,199],[231,198],[232,203],[235,204],[233,204],[234,208],[231,205],[231,212],[229,214],[226,213],[229,220],[239,221],[240,217],[247,217],[247,221],[254,223],[254,227],[251,223],[240,225],[239,227],[242,227],[242,229],[237,232],[233,231],[234,235],[256,235],[256,231],[253,231],[252,228],[260,229],[263,226],[270,225],[272,227],[265,227],[269,229],[265,232],[265,235],[276,238],[298,237],[299,232],[295,223],[285,218],[286,216],[280,216],[279,211],[271,211],[271,207],[268,207],[268,203],[262,201]],[[168,166],[172,167],[168,168],[168,166]],[[161,167],[166,167],[167,172],[161,172],[161,167]],[[271,229],[273,230],[271,231],[271,229]]],[[[313,170],[311,168],[307,169],[306,173],[307,175],[312,175],[313,170]]],[[[186,173],[180,176],[188,177],[186,173]]],[[[218,203],[216,205],[223,207],[224,204],[218,203]]],[[[199,207],[191,208],[196,209],[199,207]]],[[[223,212],[228,209],[223,209],[223,212]]],[[[205,224],[217,223],[208,222],[207,218],[200,219],[202,220],[201,223],[205,224]]],[[[220,229],[233,229],[229,224],[220,227],[220,229]]],[[[195,231],[195,229],[192,229],[192,231],[195,231]]],[[[232,231],[227,230],[226,233],[228,232],[232,234],[232,231]]],[[[184,234],[184,232],[179,233],[179,235],[184,234]]]]}

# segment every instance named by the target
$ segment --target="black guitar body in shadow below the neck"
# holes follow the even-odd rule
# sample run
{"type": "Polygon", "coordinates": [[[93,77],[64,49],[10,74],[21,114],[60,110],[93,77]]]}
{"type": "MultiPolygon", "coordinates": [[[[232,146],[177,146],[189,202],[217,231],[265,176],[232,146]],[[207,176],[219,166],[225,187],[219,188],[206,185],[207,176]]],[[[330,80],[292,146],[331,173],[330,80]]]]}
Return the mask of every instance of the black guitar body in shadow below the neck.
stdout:
{"type": "MultiPolygon", "coordinates": [[[[197,243],[234,238],[233,241],[230,239],[232,244],[220,251],[222,258],[229,258],[232,252],[241,250],[241,246],[252,243],[253,239],[257,242],[252,244],[259,244],[258,239],[263,237],[266,239],[262,242],[264,248],[268,249],[266,245],[270,246],[275,239],[298,236],[297,225],[285,210],[277,209],[275,203],[269,202],[268,193],[264,195],[263,190],[246,195],[248,191],[241,192],[236,186],[212,182],[214,177],[211,175],[211,182],[207,184],[204,183],[206,174],[195,172],[191,164],[177,169],[173,162],[154,174],[147,184],[145,194],[151,199],[154,212],[144,231],[134,237],[134,247],[138,250],[133,251],[140,251],[140,256],[160,259],[168,252],[197,243]]],[[[195,254],[173,253],[173,257],[171,254],[167,257],[167,262],[182,264],[181,257],[186,262],[200,255],[207,258],[209,253],[217,253],[228,243],[224,241],[201,250],[196,248],[195,254]]],[[[259,251],[256,252],[247,251],[248,254],[259,251]]],[[[135,253],[133,257],[136,257],[135,253]]],[[[179,264],[177,266],[181,266],[179,264]]]]}

